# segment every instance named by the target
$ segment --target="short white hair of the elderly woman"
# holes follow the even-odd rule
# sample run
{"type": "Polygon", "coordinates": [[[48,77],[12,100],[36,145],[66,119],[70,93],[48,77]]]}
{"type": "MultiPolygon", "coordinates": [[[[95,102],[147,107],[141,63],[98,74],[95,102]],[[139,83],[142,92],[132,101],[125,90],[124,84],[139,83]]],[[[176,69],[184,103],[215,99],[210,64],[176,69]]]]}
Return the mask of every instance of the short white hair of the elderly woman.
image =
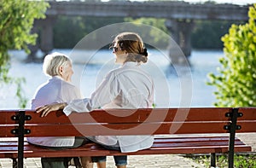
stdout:
{"type": "Polygon", "coordinates": [[[72,61],[61,53],[53,53],[46,55],[44,58],[43,71],[45,75],[57,76],[60,75],[59,69],[61,66],[67,66],[67,63],[72,63],[72,61]]]}

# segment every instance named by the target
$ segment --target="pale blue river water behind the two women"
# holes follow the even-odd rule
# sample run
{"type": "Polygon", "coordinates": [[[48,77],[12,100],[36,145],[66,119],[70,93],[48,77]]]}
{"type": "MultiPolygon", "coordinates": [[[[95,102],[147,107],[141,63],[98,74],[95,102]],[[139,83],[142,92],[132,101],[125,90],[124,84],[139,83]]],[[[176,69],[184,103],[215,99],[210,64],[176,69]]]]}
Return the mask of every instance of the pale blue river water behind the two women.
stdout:
{"type": "MultiPolygon", "coordinates": [[[[73,54],[71,49],[55,49],[67,54],[73,60],[73,84],[77,85],[84,97],[90,96],[109,70],[115,65],[111,50],[79,51],[73,54]]],[[[26,79],[23,93],[28,99],[26,108],[38,85],[49,77],[42,72],[41,63],[24,63],[23,51],[10,51],[11,68],[9,75],[26,79]]],[[[150,50],[149,61],[143,66],[154,78],[156,107],[213,107],[215,96],[213,86],[207,85],[207,74],[217,73],[220,66],[218,58],[223,56],[221,50],[192,50],[189,67],[172,66],[166,51],[150,50]]],[[[1,84],[0,109],[18,108],[15,98],[15,85],[1,84]]]]}

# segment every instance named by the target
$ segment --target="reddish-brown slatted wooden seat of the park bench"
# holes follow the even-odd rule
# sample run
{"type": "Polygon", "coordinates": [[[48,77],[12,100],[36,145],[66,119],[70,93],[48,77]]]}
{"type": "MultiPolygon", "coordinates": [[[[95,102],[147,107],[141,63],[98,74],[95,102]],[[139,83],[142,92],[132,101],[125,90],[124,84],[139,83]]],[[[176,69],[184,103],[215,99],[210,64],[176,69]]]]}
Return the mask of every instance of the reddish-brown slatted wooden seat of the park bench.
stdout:
{"type": "MultiPolygon", "coordinates": [[[[17,158],[18,142],[5,140],[0,142],[0,158],[17,158]]],[[[236,138],[235,152],[250,152],[252,148],[236,138]]],[[[229,136],[191,136],[191,137],[156,137],[152,148],[128,153],[128,155],[140,154],[209,154],[228,153],[229,136]]],[[[124,153],[123,153],[124,154],[124,153]]],[[[90,142],[82,147],[66,150],[50,150],[24,143],[24,157],[76,157],[76,156],[101,156],[122,155],[119,151],[107,150],[90,142]]]]}

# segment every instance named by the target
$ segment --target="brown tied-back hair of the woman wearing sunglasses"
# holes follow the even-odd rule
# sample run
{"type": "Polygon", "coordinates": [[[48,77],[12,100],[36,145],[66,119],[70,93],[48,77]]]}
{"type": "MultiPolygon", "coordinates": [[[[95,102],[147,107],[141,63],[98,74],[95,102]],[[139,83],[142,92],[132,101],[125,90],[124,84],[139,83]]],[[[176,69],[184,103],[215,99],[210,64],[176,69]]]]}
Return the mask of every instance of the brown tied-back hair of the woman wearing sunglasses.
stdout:
{"type": "Polygon", "coordinates": [[[143,39],[135,32],[122,32],[113,39],[114,43],[118,43],[122,50],[128,53],[126,61],[143,62],[148,61],[148,52],[145,49],[143,39]]]}

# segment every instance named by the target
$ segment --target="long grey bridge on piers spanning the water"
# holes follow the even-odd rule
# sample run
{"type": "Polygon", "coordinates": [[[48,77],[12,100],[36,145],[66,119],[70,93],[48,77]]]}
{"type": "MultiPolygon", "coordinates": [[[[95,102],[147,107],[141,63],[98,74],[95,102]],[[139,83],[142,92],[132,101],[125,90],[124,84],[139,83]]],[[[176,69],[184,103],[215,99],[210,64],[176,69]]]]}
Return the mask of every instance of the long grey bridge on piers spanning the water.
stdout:
{"type": "MultiPolygon", "coordinates": [[[[55,2],[49,1],[46,19],[36,20],[33,31],[38,27],[43,31],[40,49],[48,53],[53,49],[53,25],[55,18],[67,16],[101,16],[101,17],[154,17],[165,18],[166,27],[172,38],[183,50],[183,54],[191,54],[190,35],[195,26],[194,20],[248,20],[248,5],[230,3],[185,3],[181,1],[166,2],[55,2]]],[[[31,46],[32,54],[38,46],[31,46]]],[[[170,52],[171,53],[171,52],[170,52]]],[[[178,62],[178,56],[171,55],[172,61],[178,62]]]]}

